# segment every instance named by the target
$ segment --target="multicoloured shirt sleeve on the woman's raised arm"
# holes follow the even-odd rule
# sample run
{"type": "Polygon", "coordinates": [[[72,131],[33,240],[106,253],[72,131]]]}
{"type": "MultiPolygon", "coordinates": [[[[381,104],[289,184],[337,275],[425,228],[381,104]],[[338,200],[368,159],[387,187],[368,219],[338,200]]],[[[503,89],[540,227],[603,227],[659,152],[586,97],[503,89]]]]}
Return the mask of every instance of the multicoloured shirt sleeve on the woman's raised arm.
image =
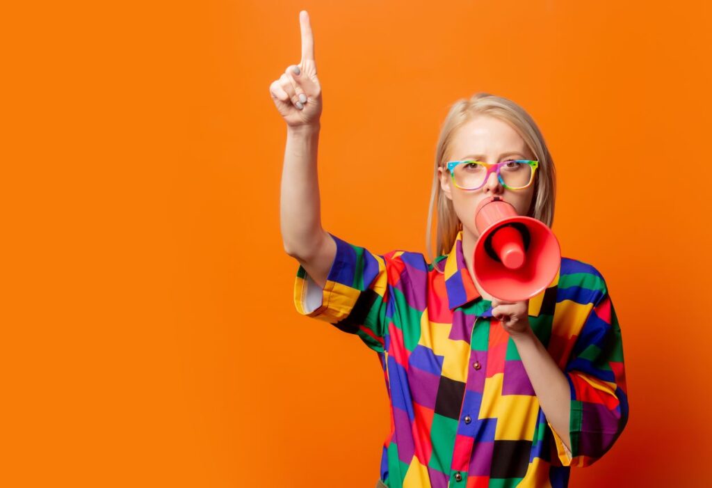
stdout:
{"type": "Polygon", "coordinates": [[[330,234],[336,256],[323,289],[299,266],[294,304],[305,316],[352,333],[376,352],[384,350],[388,302],[387,255],[372,254],[330,234]]]}

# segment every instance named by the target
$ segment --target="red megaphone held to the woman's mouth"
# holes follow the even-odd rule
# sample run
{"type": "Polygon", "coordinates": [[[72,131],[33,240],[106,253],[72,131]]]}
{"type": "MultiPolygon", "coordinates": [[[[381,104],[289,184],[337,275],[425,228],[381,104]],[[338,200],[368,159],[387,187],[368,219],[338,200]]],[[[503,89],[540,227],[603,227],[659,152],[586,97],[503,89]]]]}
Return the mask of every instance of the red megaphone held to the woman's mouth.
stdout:
{"type": "Polygon", "coordinates": [[[473,268],[478,284],[505,301],[523,301],[540,294],[554,280],[561,249],[551,229],[532,217],[518,215],[501,197],[478,204],[473,268]]]}

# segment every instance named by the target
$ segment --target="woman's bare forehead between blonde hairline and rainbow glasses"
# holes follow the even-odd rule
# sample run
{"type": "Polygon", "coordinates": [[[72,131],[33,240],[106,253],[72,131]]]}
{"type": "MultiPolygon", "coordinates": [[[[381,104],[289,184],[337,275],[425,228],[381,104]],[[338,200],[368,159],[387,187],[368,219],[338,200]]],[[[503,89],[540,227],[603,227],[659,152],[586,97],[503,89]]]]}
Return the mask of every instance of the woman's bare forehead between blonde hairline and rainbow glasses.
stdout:
{"type": "Polygon", "coordinates": [[[454,157],[485,155],[497,158],[506,152],[527,150],[526,142],[514,128],[490,115],[477,115],[454,133],[450,154],[454,157]]]}

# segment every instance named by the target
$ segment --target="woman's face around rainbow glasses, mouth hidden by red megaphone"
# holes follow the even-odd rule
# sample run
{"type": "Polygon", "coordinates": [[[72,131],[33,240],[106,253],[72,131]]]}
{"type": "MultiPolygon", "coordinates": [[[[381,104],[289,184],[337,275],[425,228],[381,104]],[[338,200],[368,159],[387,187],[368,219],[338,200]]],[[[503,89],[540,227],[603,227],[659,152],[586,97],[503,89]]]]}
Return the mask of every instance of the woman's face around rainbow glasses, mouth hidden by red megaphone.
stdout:
{"type": "MultiPolygon", "coordinates": [[[[451,140],[447,161],[476,160],[494,164],[504,160],[533,160],[522,137],[503,120],[489,115],[477,115],[456,131],[451,140]]],[[[485,185],[478,190],[461,190],[456,187],[447,167],[438,168],[440,186],[452,200],[463,232],[479,237],[475,227],[475,210],[481,200],[498,196],[513,205],[517,214],[526,215],[534,197],[534,183],[523,190],[509,190],[501,185],[496,172],[489,175],[485,185]]]]}

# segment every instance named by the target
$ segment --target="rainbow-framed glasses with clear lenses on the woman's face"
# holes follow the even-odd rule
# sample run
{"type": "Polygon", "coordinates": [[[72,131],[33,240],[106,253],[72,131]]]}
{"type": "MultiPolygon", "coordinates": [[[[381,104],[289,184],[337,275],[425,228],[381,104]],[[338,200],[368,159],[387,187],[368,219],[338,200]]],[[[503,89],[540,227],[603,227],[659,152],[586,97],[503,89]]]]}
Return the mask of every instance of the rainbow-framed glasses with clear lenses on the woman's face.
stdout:
{"type": "Polygon", "coordinates": [[[452,181],[460,190],[479,190],[487,182],[491,172],[497,173],[501,185],[509,190],[523,190],[534,181],[538,161],[506,160],[489,165],[481,161],[450,161],[447,169],[452,181]]]}

